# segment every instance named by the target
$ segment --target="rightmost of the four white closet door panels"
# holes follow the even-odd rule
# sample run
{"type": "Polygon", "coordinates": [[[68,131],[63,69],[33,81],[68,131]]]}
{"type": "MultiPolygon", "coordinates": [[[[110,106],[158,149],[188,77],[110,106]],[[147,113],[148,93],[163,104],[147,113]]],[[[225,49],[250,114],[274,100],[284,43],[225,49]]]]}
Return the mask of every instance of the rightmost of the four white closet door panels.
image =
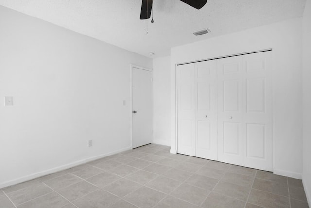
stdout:
{"type": "Polygon", "coordinates": [[[245,67],[244,165],[272,171],[271,52],[243,56],[245,67]]]}

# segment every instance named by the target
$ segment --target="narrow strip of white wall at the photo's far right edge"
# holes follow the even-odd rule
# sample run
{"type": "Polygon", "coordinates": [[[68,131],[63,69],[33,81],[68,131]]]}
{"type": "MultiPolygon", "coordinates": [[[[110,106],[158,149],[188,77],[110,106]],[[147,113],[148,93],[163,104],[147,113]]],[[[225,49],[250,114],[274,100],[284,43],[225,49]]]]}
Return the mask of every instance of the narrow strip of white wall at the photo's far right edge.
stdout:
{"type": "Polygon", "coordinates": [[[303,16],[303,174],[302,181],[311,206],[311,0],[303,16]]]}

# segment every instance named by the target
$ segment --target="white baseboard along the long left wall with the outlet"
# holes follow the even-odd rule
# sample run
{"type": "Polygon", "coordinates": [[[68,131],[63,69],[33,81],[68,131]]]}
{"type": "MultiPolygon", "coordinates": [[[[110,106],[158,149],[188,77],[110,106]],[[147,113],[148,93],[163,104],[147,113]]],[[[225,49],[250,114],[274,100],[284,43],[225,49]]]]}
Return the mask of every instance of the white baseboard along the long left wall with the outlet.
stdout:
{"type": "Polygon", "coordinates": [[[72,168],[72,167],[77,166],[77,165],[81,165],[81,164],[84,164],[84,163],[87,163],[87,162],[90,162],[90,161],[93,161],[93,160],[96,160],[96,159],[100,159],[100,158],[103,158],[103,157],[106,157],[106,156],[114,155],[114,154],[117,154],[117,153],[120,153],[120,152],[123,152],[123,151],[126,151],[126,150],[130,150],[130,149],[132,149],[132,148],[131,147],[126,147],[126,148],[123,148],[123,149],[120,149],[120,150],[117,150],[117,151],[114,151],[114,152],[102,154],[102,155],[99,155],[99,156],[89,157],[89,158],[82,159],[82,160],[79,160],[79,161],[76,161],[76,162],[72,162],[72,163],[69,163],[69,164],[66,164],[66,165],[62,165],[62,166],[58,166],[58,167],[55,167],[55,168],[51,168],[51,169],[48,169],[48,170],[45,170],[45,171],[41,171],[41,172],[37,172],[37,173],[32,173],[30,175],[26,175],[26,176],[23,176],[23,177],[14,179],[14,180],[5,181],[3,183],[0,183],[0,189],[2,189],[4,187],[7,187],[7,186],[12,186],[12,185],[15,185],[15,184],[19,184],[19,183],[22,183],[22,182],[25,182],[25,181],[33,180],[33,179],[38,178],[38,177],[42,177],[42,176],[45,176],[45,175],[49,175],[49,174],[52,174],[52,173],[63,171],[63,170],[72,168]]]}

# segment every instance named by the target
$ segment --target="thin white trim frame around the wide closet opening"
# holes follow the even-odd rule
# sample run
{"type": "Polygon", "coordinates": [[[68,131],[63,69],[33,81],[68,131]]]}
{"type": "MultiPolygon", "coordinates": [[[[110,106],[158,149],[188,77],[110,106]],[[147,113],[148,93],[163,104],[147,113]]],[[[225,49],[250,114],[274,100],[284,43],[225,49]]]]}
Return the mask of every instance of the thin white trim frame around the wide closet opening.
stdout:
{"type": "MultiPolygon", "coordinates": [[[[178,86],[178,80],[177,80],[177,67],[179,65],[184,65],[184,64],[191,64],[191,63],[197,63],[197,62],[201,62],[201,61],[210,61],[210,60],[214,60],[214,59],[221,59],[221,58],[228,58],[228,57],[232,57],[232,56],[240,56],[240,55],[247,55],[247,54],[251,54],[251,53],[259,53],[259,52],[268,52],[271,51],[271,57],[273,57],[273,49],[269,48],[269,49],[263,49],[263,50],[258,50],[258,51],[252,51],[252,52],[243,52],[243,53],[237,53],[237,54],[231,54],[231,55],[224,55],[224,56],[218,56],[218,57],[214,57],[214,58],[207,58],[207,59],[201,59],[201,60],[196,60],[196,61],[189,61],[189,62],[184,62],[184,63],[178,63],[175,64],[175,149],[172,149],[171,147],[171,153],[172,154],[177,154],[178,153],[178,110],[177,110],[177,102],[178,102],[178,98],[177,98],[177,86],[178,86]]],[[[272,69],[274,69],[274,62],[271,60],[271,66],[272,69]]],[[[273,79],[272,79],[272,71],[269,72],[269,76],[271,77],[271,90],[273,92],[273,79]]],[[[272,96],[271,98],[271,110],[273,112],[273,103],[274,103],[274,98],[272,96]]],[[[272,113],[273,114],[273,113],[272,113]]],[[[275,167],[275,158],[274,158],[274,152],[275,152],[275,141],[273,138],[273,115],[271,115],[271,128],[272,128],[272,170],[274,170],[275,167]]]]}

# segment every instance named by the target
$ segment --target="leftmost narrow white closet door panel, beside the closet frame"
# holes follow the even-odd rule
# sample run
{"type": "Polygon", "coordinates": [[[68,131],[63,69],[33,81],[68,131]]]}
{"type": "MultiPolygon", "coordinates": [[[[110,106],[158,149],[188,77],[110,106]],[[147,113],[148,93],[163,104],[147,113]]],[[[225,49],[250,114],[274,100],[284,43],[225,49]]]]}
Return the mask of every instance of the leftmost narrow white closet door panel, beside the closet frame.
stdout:
{"type": "Polygon", "coordinates": [[[195,156],[195,64],[177,66],[177,152],[195,156]]]}

